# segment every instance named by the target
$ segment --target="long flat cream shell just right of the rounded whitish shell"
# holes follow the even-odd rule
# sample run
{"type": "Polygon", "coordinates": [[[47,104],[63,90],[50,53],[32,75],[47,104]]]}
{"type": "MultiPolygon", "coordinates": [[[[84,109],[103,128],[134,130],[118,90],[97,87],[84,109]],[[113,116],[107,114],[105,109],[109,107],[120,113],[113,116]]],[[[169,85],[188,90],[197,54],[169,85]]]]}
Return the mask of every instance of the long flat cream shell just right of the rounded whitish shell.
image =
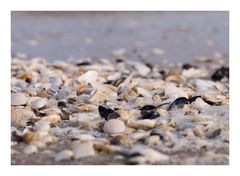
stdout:
{"type": "Polygon", "coordinates": [[[127,125],[132,128],[147,130],[147,129],[154,128],[155,124],[156,124],[156,121],[154,120],[144,119],[144,120],[129,121],[127,125]]]}

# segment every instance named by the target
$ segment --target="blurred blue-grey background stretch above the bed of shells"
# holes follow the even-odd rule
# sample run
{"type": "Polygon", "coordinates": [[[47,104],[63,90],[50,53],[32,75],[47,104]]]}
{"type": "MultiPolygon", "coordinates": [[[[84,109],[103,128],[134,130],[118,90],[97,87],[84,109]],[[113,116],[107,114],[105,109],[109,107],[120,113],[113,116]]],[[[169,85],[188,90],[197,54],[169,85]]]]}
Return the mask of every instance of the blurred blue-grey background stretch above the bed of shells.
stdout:
{"type": "Polygon", "coordinates": [[[11,13],[11,54],[69,58],[127,58],[159,63],[197,56],[229,57],[228,12],[11,13]]]}

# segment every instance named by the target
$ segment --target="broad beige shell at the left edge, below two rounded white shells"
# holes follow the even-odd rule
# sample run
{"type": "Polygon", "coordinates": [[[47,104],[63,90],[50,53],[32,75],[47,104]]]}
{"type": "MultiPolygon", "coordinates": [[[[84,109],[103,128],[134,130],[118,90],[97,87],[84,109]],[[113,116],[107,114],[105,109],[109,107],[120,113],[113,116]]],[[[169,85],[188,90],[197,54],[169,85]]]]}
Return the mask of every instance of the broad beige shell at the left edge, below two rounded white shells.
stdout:
{"type": "Polygon", "coordinates": [[[15,109],[11,111],[12,126],[25,127],[27,122],[35,117],[35,114],[27,109],[15,109]]]}

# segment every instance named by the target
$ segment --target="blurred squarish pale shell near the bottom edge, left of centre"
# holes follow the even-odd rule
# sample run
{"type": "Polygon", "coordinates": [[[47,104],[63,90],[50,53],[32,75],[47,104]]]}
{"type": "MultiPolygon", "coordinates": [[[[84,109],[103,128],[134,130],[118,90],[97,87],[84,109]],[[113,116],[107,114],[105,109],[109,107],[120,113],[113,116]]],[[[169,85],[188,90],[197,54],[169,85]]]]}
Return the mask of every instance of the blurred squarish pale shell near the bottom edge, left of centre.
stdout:
{"type": "Polygon", "coordinates": [[[88,156],[94,156],[95,150],[92,142],[77,142],[74,141],[72,144],[73,157],[75,159],[85,158],[88,156]]]}

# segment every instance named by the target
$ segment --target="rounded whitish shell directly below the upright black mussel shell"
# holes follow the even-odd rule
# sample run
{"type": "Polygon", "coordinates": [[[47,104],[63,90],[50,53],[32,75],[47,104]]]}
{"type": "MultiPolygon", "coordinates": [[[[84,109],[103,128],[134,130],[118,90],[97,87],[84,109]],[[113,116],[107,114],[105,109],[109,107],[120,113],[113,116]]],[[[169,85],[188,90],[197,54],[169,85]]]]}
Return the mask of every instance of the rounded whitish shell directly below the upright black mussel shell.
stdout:
{"type": "Polygon", "coordinates": [[[118,119],[111,119],[104,123],[103,131],[108,134],[118,134],[125,130],[125,124],[118,119]]]}

